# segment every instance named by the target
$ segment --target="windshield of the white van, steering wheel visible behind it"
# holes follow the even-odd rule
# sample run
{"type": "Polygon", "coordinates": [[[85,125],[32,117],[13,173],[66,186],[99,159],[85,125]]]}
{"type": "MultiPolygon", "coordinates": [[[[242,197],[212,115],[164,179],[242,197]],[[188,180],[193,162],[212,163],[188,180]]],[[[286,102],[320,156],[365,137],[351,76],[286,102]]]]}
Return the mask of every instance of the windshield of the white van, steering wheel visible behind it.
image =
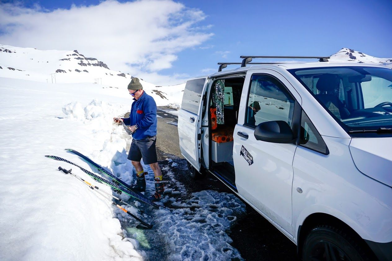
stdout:
{"type": "Polygon", "coordinates": [[[352,66],[289,72],[348,133],[392,132],[392,69],[352,66]]]}

